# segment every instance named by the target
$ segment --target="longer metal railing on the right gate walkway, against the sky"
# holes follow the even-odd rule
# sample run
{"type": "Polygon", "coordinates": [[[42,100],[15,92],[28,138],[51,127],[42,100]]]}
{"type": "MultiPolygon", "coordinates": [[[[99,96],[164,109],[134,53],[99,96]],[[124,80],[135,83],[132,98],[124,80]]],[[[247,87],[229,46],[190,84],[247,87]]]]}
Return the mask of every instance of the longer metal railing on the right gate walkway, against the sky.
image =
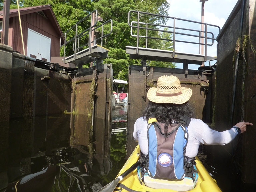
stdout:
{"type": "MultiPolygon", "coordinates": [[[[204,54],[204,60],[206,61],[206,56],[207,56],[207,46],[212,46],[214,44],[214,41],[216,41],[216,38],[214,38],[214,33],[211,31],[207,31],[207,26],[211,26],[214,28],[218,29],[218,34],[220,32],[220,27],[217,25],[211,25],[211,24],[207,24],[207,23],[201,23],[201,22],[197,22],[197,21],[191,21],[191,20],[186,20],[186,19],[180,19],[180,18],[175,18],[175,17],[169,17],[169,16],[164,16],[164,15],[157,15],[157,14],[153,14],[153,13],[146,13],[146,12],[140,12],[140,11],[134,11],[134,10],[130,10],[128,13],[128,25],[131,27],[131,36],[133,37],[137,37],[137,47],[136,47],[136,54],[138,54],[139,51],[139,38],[145,38],[146,39],[146,43],[145,46],[146,48],[148,48],[148,39],[159,39],[159,40],[165,40],[165,41],[173,41],[173,52],[172,52],[172,57],[175,57],[175,43],[176,42],[180,42],[180,43],[190,43],[190,44],[198,44],[199,45],[199,51],[198,54],[200,54],[200,47],[204,46],[204,50],[205,50],[205,54],[204,54]],[[137,14],[137,21],[131,21],[130,22],[130,18],[131,18],[131,13],[135,13],[137,14]],[[155,16],[155,17],[162,17],[164,19],[172,19],[173,20],[173,25],[172,26],[167,26],[167,25],[162,25],[162,24],[155,24],[155,23],[146,23],[146,22],[140,22],[140,18],[143,15],[150,15],[150,16],[155,16]],[[197,30],[197,29],[189,29],[189,28],[183,28],[183,27],[179,27],[176,24],[176,21],[184,21],[184,22],[188,22],[190,24],[200,24],[200,25],[204,25],[204,31],[202,30],[197,30]],[[136,24],[136,25],[134,25],[136,24]],[[153,28],[150,28],[153,27],[153,28]],[[161,28],[165,28],[167,27],[168,30],[162,30],[161,28]],[[137,34],[133,34],[133,29],[137,29],[137,34]],[[144,29],[146,30],[146,35],[140,35],[139,33],[139,29],[144,29]],[[169,29],[171,29],[171,31],[169,31],[169,29]],[[158,32],[166,32],[166,33],[170,33],[173,34],[172,39],[165,39],[165,38],[161,38],[161,37],[150,37],[148,36],[148,32],[149,31],[158,31],[158,32]],[[198,35],[194,35],[192,33],[198,33],[198,35]],[[198,42],[194,42],[194,41],[183,41],[183,40],[179,40],[176,38],[176,35],[182,35],[182,36],[190,36],[190,37],[195,37],[198,38],[198,42]],[[204,39],[204,42],[202,41],[202,39],[204,39]],[[207,43],[207,40],[210,40],[210,44],[207,43]]],[[[201,27],[201,26],[200,26],[201,27]]]]}

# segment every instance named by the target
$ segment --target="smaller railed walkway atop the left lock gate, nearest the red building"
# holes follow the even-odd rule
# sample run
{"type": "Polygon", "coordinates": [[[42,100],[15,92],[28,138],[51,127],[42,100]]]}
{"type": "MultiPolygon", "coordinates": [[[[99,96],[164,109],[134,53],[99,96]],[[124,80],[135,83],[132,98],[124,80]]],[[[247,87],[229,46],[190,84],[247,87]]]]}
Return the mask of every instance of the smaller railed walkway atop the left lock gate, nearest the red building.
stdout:
{"type": "Polygon", "coordinates": [[[98,11],[94,10],[78,23],[76,23],[73,27],[67,30],[60,37],[60,47],[64,46],[64,63],[74,63],[74,64],[86,64],[95,61],[101,62],[101,59],[106,58],[108,56],[108,49],[102,46],[103,38],[110,35],[112,33],[113,21],[110,19],[100,25],[97,26],[97,22],[102,19],[98,16],[98,11]],[[87,22],[88,19],[91,19],[90,27],[79,33],[79,25],[82,25],[84,22],[87,22]],[[104,33],[104,27],[110,24],[110,29],[108,33],[104,33]],[[101,33],[99,32],[101,31],[101,33]],[[67,40],[67,34],[75,33],[75,37],[70,40],[67,40]],[[96,34],[97,33],[97,34],[96,34]],[[99,36],[96,38],[96,35],[99,36]],[[61,40],[64,38],[64,43],[61,44],[61,40]],[[98,41],[101,41],[101,45],[97,45],[98,41]],[[68,57],[66,55],[66,46],[68,44],[73,44],[74,54],[68,57]],[[81,45],[82,44],[82,45],[81,45]]]}

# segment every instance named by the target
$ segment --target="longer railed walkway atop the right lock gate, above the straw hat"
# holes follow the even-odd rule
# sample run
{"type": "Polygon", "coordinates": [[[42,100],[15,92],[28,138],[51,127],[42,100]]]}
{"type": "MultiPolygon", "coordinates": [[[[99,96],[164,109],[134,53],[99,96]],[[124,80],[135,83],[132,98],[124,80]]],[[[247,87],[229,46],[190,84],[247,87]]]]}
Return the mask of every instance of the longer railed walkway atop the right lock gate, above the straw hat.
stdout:
{"type": "Polygon", "coordinates": [[[214,32],[215,34],[217,33],[217,35],[220,32],[220,27],[217,25],[134,10],[131,10],[128,13],[128,24],[131,27],[131,36],[137,37],[136,47],[126,46],[126,53],[130,54],[130,58],[132,59],[167,61],[186,64],[190,63],[198,65],[202,65],[204,61],[216,60],[216,57],[207,55],[207,46],[212,46],[214,41],[216,41],[214,32]],[[159,18],[162,18],[163,20],[172,20],[172,23],[170,26],[168,26],[163,24],[155,24],[153,22],[143,22],[143,18],[148,18],[149,16],[158,18],[158,20],[159,18]],[[137,20],[130,21],[131,18],[137,18],[137,20]],[[201,28],[201,25],[204,26],[204,30],[197,30],[197,28],[201,28]],[[181,26],[188,27],[183,28],[181,26]],[[207,27],[211,30],[207,29],[207,27]],[[158,33],[153,33],[154,31],[157,31],[158,33]],[[169,33],[170,38],[167,39],[158,36],[161,33],[169,33]],[[157,36],[153,36],[152,34],[157,34],[157,36]],[[188,37],[191,40],[185,41],[184,38],[186,39],[188,37]],[[145,41],[143,39],[145,39],[145,41]],[[149,40],[151,39],[154,39],[155,41],[171,41],[173,42],[173,49],[152,49],[152,47],[149,47],[149,40]],[[198,45],[198,54],[193,53],[194,50],[191,50],[190,53],[176,51],[177,43],[182,43],[183,46],[188,44],[198,45]],[[204,47],[204,51],[201,51],[201,46],[204,47]]]}

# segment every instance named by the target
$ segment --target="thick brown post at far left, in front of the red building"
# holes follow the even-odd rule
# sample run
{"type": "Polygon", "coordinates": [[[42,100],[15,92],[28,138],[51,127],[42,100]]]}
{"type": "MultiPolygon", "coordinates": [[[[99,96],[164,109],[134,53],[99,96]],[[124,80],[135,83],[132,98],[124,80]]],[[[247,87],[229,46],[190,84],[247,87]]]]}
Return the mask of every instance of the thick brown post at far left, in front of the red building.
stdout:
{"type": "Polygon", "coordinates": [[[10,0],[4,0],[4,13],[3,13],[3,35],[2,43],[8,45],[9,34],[9,17],[10,17],[10,0]]]}

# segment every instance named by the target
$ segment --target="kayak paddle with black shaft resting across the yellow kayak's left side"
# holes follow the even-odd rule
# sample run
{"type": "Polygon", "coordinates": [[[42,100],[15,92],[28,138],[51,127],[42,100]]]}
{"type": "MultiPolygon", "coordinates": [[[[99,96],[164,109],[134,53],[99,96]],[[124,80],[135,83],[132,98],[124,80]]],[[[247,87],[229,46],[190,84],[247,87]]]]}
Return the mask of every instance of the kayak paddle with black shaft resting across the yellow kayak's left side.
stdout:
{"type": "Polygon", "coordinates": [[[119,175],[114,181],[110,182],[106,186],[102,187],[99,191],[97,192],[112,192],[119,181],[122,181],[125,176],[127,176],[130,172],[132,172],[134,169],[136,169],[141,163],[143,163],[143,160],[140,159],[136,163],[134,163],[129,169],[127,169],[124,173],[119,175]]]}

